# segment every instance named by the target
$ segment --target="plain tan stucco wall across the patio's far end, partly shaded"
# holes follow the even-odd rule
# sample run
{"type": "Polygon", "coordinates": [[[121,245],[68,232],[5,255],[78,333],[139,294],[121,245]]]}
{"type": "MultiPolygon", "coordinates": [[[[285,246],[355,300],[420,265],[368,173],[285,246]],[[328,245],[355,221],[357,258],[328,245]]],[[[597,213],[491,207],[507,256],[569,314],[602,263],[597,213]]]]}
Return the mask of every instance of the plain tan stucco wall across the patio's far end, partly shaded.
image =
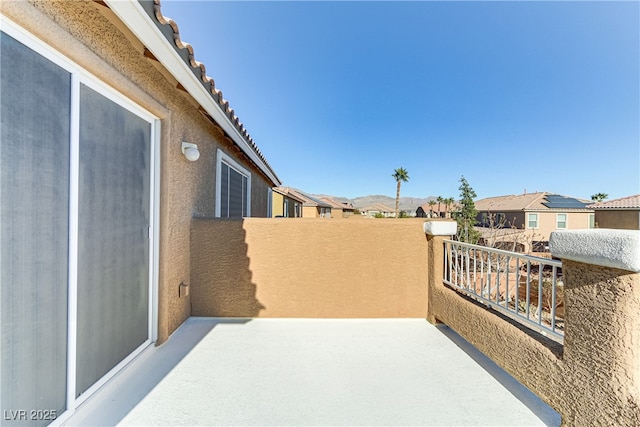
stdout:
{"type": "Polygon", "coordinates": [[[422,223],[195,219],[193,314],[425,317],[422,223]]]}

